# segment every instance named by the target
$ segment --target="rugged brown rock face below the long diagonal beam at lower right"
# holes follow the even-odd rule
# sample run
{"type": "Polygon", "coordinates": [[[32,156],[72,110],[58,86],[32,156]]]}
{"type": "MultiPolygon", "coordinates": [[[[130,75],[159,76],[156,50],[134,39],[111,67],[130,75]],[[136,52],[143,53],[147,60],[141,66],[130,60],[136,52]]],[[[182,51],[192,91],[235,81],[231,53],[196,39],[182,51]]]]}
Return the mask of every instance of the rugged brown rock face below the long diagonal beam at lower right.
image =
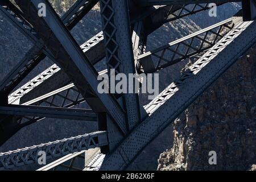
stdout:
{"type": "Polygon", "coordinates": [[[174,146],[160,154],[159,170],[255,170],[255,68],[254,45],[175,120],[174,146]]]}

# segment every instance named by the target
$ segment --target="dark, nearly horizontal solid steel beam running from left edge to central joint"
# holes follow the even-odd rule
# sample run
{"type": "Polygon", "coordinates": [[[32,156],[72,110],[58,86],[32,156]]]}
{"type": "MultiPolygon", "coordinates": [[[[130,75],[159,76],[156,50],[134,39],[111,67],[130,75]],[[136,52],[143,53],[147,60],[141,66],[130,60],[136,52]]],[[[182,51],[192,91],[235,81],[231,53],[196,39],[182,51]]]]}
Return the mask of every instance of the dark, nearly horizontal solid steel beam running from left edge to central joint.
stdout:
{"type": "Polygon", "coordinates": [[[90,109],[70,109],[62,107],[46,106],[22,106],[7,105],[0,106],[0,114],[46,117],[57,119],[73,119],[82,121],[97,121],[97,115],[90,109]]]}

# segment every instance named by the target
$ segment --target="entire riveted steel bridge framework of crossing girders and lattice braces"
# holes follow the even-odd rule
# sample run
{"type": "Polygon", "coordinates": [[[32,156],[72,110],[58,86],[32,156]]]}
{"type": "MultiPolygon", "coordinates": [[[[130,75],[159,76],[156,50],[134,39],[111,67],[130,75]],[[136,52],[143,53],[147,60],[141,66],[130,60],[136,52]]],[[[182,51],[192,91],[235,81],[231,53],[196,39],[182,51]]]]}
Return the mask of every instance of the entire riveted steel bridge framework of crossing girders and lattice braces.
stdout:
{"type": "Polygon", "coordinates": [[[60,18],[47,0],[0,1],[0,11],[34,46],[0,82],[0,145],[44,118],[97,122],[98,131],[0,154],[0,169],[55,162],[39,170],[123,170],[175,118],[256,42],[256,1],[100,0],[102,31],[79,46],[69,31],[98,3],[77,0],[60,18]],[[164,23],[242,2],[232,18],[146,52],[147,36],[164,23]],[[47,16],[38,16],[39,3],[47,16]],[[160,6],[157,6],[160,5],[160,6]],[[155,73],[200,58],[150,104],[138,94],[100,94],[102,73],[155,73]],[[45,57],[55,64],[15,90],[45,57]],[[107,68],[95,65],[105,59],[107,68]],[[86,102],[90,109],[76,109],[86,102]],[[89,153],[86,151],[90,151],[89,153]],[[86,159],[86,160],[85,160],[86,159]],[[74,166],[79,161],[79,167],[74,166]]]}

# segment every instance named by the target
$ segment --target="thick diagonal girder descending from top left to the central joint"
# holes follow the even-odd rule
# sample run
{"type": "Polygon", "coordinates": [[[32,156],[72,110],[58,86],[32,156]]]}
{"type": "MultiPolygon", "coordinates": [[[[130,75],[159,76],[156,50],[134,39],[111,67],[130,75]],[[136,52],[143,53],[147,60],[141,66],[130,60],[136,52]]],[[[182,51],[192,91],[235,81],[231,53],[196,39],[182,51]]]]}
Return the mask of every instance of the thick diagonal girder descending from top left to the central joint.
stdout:
{"type": "Polygon", "coordinates": [[[88,89],[93,90],[101,101],[99,104],[105,107],[105,110],[117,123],[119,129],[126,133],[125,112],[110,94],[97,92],[99,83],[97,72],[86,59],[84,53],[69,34],[49,2],[16,0],[16,3],[23,10],[26,18],[36,27],[38,34],[47,43],[47,47],[55,56],[57,63],[72,78],[82,95],[85,96],[88,89]],[[46,4],[48,14],[46,17],[39,18],[37,16],[37,8],[38,4],[42,2],[46,4]]]}

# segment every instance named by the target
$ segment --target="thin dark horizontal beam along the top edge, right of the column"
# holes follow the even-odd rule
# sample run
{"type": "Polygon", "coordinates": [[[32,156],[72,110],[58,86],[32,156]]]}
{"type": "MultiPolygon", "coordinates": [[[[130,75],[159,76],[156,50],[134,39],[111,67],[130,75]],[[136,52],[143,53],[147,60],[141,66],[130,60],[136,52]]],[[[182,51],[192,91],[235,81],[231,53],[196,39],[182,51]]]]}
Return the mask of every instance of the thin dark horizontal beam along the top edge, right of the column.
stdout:
{"type": "MultiPolygon", "coordinates": [[[[240,2],[242,0],[228,0],[228,2],[240,2]]],[[[137,3],[140,6],[155,6],[155,5],[189,5],[196,3],[224,3],[226,0],[139,0],[137,3]]]]}

